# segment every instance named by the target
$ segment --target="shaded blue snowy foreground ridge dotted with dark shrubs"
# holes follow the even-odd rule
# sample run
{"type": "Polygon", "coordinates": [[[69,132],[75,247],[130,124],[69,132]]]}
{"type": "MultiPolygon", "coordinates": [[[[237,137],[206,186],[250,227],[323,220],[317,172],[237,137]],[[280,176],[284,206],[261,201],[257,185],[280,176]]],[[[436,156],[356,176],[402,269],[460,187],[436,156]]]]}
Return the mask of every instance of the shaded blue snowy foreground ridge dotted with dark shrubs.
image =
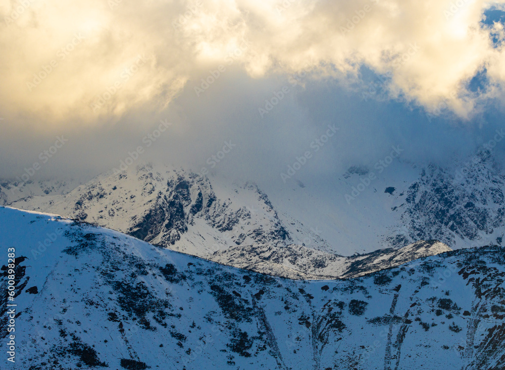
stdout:
{"type": "MultiPolygon", "coordinates": [[[[15,253],[16,306],[3,294],[0,315],[2,347],[15,347],[8,369],[505,366],[498,246],[349,280],[300,281],[5,207],[0,245],[15,253]]],[[[7,257],[3,292],[12,280],[7,257]]]]}

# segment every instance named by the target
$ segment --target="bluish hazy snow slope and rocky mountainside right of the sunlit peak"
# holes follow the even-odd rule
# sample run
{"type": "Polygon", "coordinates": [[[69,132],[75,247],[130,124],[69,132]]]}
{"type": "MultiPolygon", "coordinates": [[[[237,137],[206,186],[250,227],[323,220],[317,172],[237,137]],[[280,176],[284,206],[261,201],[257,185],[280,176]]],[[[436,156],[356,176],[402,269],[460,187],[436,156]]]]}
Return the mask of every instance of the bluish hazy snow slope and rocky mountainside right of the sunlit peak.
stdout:
{"type": "Polygon", "coordinates": [[[264,191],[281,221],[290,216],[317,230],[337,254],[431,239],[452,249],[502,245],[505,169],[489,152],[444,166],[376,165],[317,182],[300,174],[301,183],[279,181],[264,191]]]}

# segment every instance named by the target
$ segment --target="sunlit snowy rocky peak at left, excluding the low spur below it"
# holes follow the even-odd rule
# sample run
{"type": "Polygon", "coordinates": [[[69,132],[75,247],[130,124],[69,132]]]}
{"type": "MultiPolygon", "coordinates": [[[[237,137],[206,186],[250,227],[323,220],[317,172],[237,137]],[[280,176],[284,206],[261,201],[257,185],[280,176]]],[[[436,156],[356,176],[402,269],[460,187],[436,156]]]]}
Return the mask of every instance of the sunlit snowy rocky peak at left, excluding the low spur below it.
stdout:
{"type": "MultiPolygon", "coordinates": [[[[130,167],[118,175],[100,175],[63,196],[34,195],[11,204],[107,226],[200,256],[243,243],[289,243],[291,234],[311,233],[301,225],[288,232],[255,184],[216,186],[165,166],[130,167]]],[[[317,235],[312,239],[324,247],[317,235]]]]}

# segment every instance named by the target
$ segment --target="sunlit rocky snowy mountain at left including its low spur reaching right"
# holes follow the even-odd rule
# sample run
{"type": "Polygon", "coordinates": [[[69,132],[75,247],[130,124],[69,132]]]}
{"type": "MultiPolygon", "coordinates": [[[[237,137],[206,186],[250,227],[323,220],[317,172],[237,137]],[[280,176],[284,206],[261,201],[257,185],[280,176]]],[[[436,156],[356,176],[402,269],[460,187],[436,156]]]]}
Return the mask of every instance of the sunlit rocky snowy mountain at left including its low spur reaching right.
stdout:
{"type": "MultiPolygon", "coordinates": [[[[21,187],[18,192],[28,190],[21,187]]],[[[347,276],[360,260],[370,265],[360,271],[377,268],[373,255],[342,257],[332,251],[317,229],[286,214],[281,220],[267,194],[253,183],[236,185],[219,178],[211,183],[209,178],[182,169],[145,165],[100,175],[66,194],[55,193],[34,193],[10,203],[96,223],[151,244],[276,276],[347,276]]],[[[440,243],[428,248],[412,244],[402,249],[401,255],[408,257],[396,265],[447,250],[440,243]]],[[[379,254],[386,252],[396,254],[394,250],[379,254]]]]}

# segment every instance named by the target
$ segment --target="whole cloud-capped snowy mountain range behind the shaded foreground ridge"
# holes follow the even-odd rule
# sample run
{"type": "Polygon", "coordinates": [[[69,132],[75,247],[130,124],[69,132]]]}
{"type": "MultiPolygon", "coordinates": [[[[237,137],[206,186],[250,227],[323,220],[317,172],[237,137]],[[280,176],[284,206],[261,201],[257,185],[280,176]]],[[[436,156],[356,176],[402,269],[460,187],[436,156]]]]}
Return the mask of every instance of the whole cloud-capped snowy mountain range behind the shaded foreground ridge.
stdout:
{"type": "Polygon", "coordinates": [[[205,257],[277,243],[338,255],[420,240],[452,249],[501,245],[505,170],[489,152],[444,167],[377,164],[316,183],[293,178],[261,187],[169,166],[130,166],[75,189],[74,182],[0,181],[0,204],[96,222],[205,257]]]}

